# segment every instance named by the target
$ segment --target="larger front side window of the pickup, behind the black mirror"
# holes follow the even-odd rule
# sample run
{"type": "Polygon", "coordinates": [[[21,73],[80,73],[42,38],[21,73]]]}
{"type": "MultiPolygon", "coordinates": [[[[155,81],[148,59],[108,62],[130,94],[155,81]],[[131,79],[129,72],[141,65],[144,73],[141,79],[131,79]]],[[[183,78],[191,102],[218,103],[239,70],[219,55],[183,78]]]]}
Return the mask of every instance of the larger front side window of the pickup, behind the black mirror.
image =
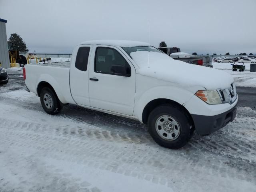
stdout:
{"type": "Polygon", "coordinates": [[[96,49],[94,71],[96,73],[117,75],[113,71],[113,66],[123,66],[127,74],[131,72],[130,65],[117,50],[98,47],[96,49]]]}

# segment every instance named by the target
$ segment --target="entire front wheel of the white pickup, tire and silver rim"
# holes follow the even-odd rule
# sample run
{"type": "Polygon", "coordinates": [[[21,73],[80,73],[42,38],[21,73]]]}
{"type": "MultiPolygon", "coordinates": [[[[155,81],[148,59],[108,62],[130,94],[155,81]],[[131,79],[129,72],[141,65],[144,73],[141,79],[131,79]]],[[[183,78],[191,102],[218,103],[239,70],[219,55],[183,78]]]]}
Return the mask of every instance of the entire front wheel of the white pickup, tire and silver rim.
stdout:
{"type": "Polygon", "coordinates": [[[159,145],[178,149],[190,140],[194,127],[185,110],[165,104],[156,107],[148,116],[148,131],[159,145]]]}

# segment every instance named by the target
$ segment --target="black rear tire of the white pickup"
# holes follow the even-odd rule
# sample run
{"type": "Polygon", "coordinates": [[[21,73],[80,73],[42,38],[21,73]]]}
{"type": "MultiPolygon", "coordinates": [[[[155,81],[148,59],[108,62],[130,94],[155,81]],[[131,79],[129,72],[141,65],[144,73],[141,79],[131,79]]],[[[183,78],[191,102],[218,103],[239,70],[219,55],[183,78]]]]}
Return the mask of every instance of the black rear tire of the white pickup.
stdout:
{"type": "Polygon", "coordinates": [[[42,88],[40,93],[40,101],[44,111],[48,114],[58,114],[62,110],[62,105],[58,99],[58,96],[52,89],[48,87],[42,88]],[[48,98],[50,98],[51,105],[48,104],[48,106],[46,106],[47,104],[44,102],[44,100],[46,101],[46,98],[44,98],[46,95],[48,98]]]}

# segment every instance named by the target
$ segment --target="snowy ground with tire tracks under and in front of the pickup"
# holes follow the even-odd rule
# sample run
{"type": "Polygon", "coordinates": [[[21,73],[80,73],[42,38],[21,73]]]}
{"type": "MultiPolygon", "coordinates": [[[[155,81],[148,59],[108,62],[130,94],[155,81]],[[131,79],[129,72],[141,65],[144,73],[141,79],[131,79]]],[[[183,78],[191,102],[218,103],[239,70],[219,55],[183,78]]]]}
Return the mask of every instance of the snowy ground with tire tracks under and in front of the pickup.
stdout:
{"type": "Polygon", "coordinates": [[[46,114],[20,69],[0,87],[0,191],[256,191],[256,111],[179,150],[134,120],[65,106],[46,114]]]}

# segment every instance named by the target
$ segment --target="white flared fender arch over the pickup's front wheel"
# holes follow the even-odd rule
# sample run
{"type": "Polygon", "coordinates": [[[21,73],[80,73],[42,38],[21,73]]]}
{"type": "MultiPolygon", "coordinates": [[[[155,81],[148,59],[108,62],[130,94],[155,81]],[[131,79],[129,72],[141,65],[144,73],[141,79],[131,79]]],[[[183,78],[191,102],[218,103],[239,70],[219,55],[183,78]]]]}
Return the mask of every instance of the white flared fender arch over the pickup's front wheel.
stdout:
{"type": "Polygon", "coordinates": [[[134,114],[140,122],[142,122],[142,113],[146,105],[155,99],[169,99],[185,105],[194,94],[188,90],[175,86],[156,86],[146,90],[140,95],[136,95],[134,104],[134,114]]]}

